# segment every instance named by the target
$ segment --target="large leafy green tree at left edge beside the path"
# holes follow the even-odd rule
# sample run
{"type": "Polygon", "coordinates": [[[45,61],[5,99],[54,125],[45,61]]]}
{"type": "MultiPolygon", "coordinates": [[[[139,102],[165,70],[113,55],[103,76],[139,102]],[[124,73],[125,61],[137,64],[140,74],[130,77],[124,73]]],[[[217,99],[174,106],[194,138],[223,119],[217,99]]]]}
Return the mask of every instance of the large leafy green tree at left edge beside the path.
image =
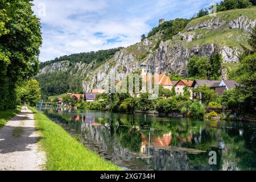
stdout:
{"type": "Polygon", "coordinates": [[[16,106],[16,86],[38,72],[40,22],[27,0],[0,3],[0,110],[16,106]]]}

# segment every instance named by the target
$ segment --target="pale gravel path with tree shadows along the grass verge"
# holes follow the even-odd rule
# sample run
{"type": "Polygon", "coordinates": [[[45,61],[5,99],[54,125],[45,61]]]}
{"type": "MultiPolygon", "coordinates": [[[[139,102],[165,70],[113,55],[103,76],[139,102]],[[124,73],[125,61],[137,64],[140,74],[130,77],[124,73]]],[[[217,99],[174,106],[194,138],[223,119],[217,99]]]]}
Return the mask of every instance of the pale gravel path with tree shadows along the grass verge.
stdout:
{"type": "Polygon", "coordinates": [[[0,171],[43,170],[46,156],[39,149],[32,111],[26,106],[0,129],[0,171]]]}

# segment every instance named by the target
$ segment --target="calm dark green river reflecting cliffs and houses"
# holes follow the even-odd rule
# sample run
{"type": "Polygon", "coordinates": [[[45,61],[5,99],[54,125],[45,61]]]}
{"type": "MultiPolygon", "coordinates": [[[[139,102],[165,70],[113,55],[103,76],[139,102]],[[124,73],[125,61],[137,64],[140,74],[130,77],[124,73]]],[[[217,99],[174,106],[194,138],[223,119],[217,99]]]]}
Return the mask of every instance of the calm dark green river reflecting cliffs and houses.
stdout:
{"type": "Polygon", "coordinates": [[[256,170],[256,123],[44,110],[90,150],[133,170],[256,170]],[[217,164],[209,164],[209,152],[217,164]]]}

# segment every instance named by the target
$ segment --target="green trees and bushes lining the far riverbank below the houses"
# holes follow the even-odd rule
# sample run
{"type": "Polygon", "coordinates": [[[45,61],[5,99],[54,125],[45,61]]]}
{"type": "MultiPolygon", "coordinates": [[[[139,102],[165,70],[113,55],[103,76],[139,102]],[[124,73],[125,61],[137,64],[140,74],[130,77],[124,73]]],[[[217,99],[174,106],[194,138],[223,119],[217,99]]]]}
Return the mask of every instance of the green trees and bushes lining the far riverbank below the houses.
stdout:
{"type": "MultiPolygon", "coordinates": [[[[187,114],[188,117],[192,118],[216,117],[217,113],[214,109],[221,108],[238,112],[240,115],[253,115],[256,96],[256,27],[254,27],[248,42],[250,49],[246,49],[245,53],[241,55],[240,65],[232,72],[233,78],[240,82],[242,86],[226,90],[222,96],[217,96],[214,90],[208,86],[199,86],[193,89],[193,92],[202,93],[201,101],[203,104],[200,104],[199,100],[191,101],[189,99],[190,92],[187,86],[184,88],[183,96],[176,96],[174,87],[169,90],[159,86],[160,97],[158,100],[149,100],[150,93],[143,93],[139,98],[131,97],[128,93],[115,93],[98,94],[96,102],[91,104],[81,99],[76,101],[69,95],[63,97],[63,102],[66,104],[71,103],[72,106],[76,106],[79,109],[110,110],[121,113],[133,112],[134,110],[157,110],[159,113],[177,112],[187,114]],[[213,109],[213,111],[205,115],[207,107],[213,109]]],[[[218,77],[220,76],[221,61],[220,55],[213,55],[210,59],[207,59],[207,57],[192,57],[189,61],[189,75],[193,76],[193,78],[218,77]]],[[[171,75],[170,77],[175,76],[171,75]]],[[[189,79],[193,78],[190,77],[189,79]]],[[[56,101],[57,98],[53,100],[53,104],[56,104],[56,101]]]]}

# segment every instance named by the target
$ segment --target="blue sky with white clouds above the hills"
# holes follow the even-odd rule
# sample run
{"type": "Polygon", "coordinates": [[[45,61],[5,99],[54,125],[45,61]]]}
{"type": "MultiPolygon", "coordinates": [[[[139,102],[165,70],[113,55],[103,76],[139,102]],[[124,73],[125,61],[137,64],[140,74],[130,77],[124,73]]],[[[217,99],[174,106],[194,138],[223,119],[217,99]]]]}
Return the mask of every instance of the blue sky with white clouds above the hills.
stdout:
{"type": "Polygon", "coordinates": [[[34,0],[41,19],[40,61],[72,53],[127,47],[158,20],[191,18],[219,0],[34,0]]]}

